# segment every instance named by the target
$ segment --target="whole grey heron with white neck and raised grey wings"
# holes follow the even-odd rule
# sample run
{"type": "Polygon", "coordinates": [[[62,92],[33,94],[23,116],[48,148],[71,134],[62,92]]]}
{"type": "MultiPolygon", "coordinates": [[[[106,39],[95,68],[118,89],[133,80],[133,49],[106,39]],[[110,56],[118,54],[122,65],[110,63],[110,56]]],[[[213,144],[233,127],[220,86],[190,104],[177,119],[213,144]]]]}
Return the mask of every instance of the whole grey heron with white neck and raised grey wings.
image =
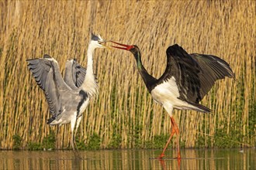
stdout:
{"type": "Polygon", "coordinates": [[[57,61],[44,55],[39,59],[27,59],[29,71],[36,83],[43,90],[52,117],[47,124],[71,123],[71,145],[74,151],[75,135],[81,117],[89,101],[98,94],[98,85],[93,73],[93,52],[96,48],[106,48],[101,36],[92,34],[88,45],[87,69],[85,70],[75,59],[67,60],[64,79],[61,76],[57,61]],[[75,128],[75,131],[74,131],[75,128]]]}

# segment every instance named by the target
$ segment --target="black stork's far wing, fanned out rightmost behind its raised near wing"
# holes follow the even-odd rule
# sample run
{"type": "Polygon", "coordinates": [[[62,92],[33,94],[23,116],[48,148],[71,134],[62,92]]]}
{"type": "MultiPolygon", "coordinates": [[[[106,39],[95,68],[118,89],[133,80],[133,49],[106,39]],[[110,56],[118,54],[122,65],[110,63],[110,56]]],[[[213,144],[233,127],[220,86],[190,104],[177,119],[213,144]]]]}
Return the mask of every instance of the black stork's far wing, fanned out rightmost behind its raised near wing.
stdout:
{"type": "Polygon", "coordinates": [[[206,93],[213,87],[216,80],[224,79],[225,76],[234,78],[234,73],[230,65],[217,56],[192,53],[193,59],[199,63],[201,71],[199,73],[199,80],[201,83],[200,96],[204,97],[206,93]]]}

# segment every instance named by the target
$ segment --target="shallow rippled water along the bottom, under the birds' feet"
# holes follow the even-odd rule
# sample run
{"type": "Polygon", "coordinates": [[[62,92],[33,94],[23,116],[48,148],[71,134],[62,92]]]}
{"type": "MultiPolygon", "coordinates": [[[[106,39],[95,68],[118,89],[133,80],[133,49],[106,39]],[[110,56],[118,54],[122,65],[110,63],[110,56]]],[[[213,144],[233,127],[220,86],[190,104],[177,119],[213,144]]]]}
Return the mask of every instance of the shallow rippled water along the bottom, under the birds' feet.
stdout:
{"type": "Polygon", "coordinates": [[[80,151],[0,151],[0,169],[255,169],[256,150],[184,149],[182,160],[173,159],[175,150],[166,151],[162,162],[152,159],[161,150],[80,151]]]}

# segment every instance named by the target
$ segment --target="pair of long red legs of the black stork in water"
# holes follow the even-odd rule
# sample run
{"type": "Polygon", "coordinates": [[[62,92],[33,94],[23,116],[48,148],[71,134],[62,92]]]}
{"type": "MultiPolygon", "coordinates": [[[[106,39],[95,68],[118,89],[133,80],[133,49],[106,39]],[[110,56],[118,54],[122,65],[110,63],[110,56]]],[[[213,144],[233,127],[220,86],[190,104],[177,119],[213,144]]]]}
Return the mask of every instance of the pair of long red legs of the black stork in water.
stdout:
{"type": "Polygon", "coordinates": [[[175,119],[173,117],[171,117],[171,135],[170,135],[170,138],[168,139],[166,145],[164,146],[164,150],[162,151],[161,155],[158,157],[158,158],[163,158],[164,157],[164,152],[166,150],[166,148],[168,148],[168,145],[171,141],[171,138],[174,134],[177,134],[177,150],[178,150],[178,159],[181,158],[181,155],[180,155],[180,151],[179,151],[179,141],[178,141],[178,138],[179,138],[179,132],[178,132],[178,126],[177,124],[175,123],[175,119]]]}

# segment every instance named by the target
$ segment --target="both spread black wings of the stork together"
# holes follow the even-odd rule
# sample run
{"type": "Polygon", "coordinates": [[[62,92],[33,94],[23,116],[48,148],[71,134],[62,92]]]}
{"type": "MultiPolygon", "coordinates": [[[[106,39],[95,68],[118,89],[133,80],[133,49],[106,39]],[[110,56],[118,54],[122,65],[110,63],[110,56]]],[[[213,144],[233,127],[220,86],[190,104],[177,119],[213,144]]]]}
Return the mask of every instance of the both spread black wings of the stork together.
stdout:
{"type": "Polygon", "coordinates": [[[188,102],[199,103],[216,80],[233,75],[228,64],[216,56],[189,55],[177,44],[166,53],[167,67],[159,81],[174,76],[180,99],[188,102]]]}

